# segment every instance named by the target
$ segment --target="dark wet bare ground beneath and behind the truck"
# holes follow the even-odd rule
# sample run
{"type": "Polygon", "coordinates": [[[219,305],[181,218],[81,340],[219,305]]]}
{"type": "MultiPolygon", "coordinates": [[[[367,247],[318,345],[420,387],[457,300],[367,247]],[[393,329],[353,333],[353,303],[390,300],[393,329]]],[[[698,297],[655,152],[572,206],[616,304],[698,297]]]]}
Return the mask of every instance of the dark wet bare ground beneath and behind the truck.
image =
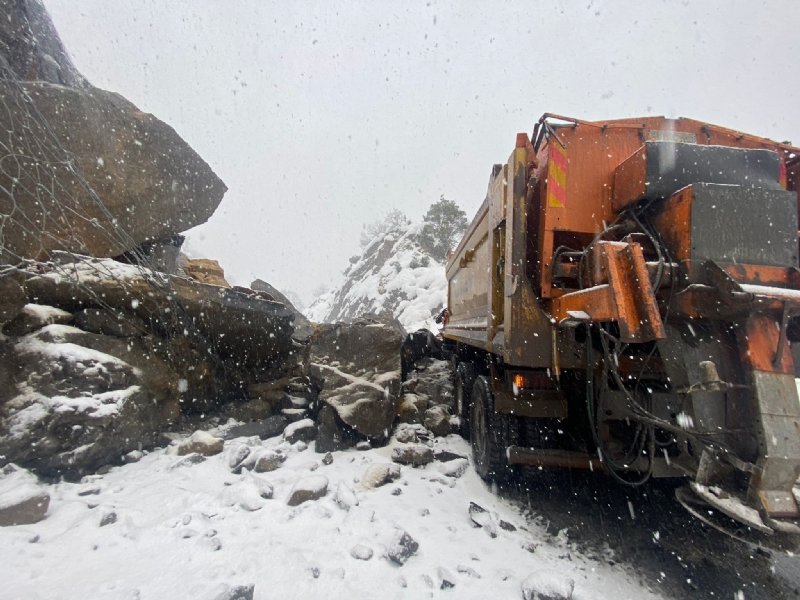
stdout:
{"type": "Polygon", "coordinates": [[[553,533],[566,529],[585,552],[629,565],[667,598],[800,598],[800,558],[708,527],[674,499],[676,485],[632,489],[601,474],[526,469],[499,493],[553,533]]]}

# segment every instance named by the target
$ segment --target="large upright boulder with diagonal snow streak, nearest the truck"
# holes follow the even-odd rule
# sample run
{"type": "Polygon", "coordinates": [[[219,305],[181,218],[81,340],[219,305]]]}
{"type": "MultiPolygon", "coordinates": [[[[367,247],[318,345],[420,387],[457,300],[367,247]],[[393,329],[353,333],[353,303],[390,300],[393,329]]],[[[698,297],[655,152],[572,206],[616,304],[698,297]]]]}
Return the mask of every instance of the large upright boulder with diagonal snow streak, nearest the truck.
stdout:
{"type": "Polygon", "coordinates": [[[349,427],[385,441],[400,397],[400,345],[405,330],[392,317],[319,325],[310,370],[323,381],[320,401],[349,427]]]}

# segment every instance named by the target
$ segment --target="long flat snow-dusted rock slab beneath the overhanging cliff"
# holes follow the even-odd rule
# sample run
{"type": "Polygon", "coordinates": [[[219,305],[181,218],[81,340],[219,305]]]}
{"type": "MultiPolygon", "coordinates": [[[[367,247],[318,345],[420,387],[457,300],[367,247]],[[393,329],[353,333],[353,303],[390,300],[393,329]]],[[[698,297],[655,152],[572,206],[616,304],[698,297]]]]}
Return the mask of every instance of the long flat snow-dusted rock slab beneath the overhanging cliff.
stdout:
{"type": "MultiPolygon", "coordinates": [[[[201,336],[195,346],[253,371],[293,350],[291,313],[247,288],[221,288],[110,259],[56,252],[27,269],[30,298],[78,312],[112,307],[150,323],[176,340],[201,336]]],[[[177,341],[175,342],[177,343],[177,341]]],[[[187,372],[190,370],[188,369],[187,372]]]]}

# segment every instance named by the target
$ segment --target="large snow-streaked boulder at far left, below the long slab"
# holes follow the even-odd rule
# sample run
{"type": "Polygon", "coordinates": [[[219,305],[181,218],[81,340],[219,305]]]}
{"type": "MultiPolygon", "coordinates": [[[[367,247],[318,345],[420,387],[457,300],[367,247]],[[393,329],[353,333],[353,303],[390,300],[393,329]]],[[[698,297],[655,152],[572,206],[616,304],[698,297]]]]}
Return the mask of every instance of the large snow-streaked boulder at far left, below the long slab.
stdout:
{"type": "Polygon", "coordinates": [[[81,473],[155,444],[180,414],[179,377],[157,344],[67,325],[20,338],[14,395],[0,406],[2,462],[81,473]]]}

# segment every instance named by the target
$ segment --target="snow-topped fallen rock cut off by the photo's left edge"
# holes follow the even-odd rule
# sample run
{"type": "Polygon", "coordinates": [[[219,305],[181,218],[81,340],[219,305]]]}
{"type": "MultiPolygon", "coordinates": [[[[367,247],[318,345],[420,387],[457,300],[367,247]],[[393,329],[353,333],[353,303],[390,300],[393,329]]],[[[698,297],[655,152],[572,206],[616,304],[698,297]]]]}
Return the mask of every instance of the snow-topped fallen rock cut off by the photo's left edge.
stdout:
{"type": "Polygon", "coordinates": [[[49,506],[50,494],[35,475],[14,464],[0,469],[0,527],[38,523],[49,506]]]}

